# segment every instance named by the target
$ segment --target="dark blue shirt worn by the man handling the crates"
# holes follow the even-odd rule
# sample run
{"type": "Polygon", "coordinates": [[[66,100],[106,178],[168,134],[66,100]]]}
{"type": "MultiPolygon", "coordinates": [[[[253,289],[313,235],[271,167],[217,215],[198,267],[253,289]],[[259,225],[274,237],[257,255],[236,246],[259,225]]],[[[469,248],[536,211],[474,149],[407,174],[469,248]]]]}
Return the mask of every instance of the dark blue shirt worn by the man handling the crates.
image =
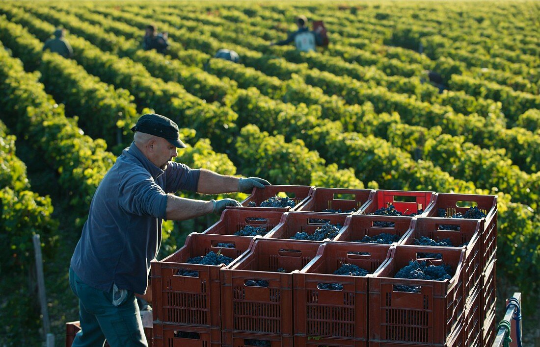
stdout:
{"type": "Polygon", "coordinates": [[[171,162],[161,170],[132,143],[103,177],[71,258],[86,284],[144,294],[161,244],[167,193],[197,191],[200,170],[171,162]]]}

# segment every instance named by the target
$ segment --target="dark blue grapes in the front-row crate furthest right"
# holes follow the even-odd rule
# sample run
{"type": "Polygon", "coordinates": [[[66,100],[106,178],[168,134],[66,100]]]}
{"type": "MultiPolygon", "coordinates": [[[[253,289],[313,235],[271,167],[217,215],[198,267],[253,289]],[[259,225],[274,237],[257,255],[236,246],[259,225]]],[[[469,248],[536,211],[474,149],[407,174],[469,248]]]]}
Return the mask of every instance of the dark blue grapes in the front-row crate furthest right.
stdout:
{"type": "MultiPolygon", "coordinates": [[[[394,276],[396,279],[444,281],[452,278],[452,268],[448,264],[427,265],[426,261],[409,261],[409,265],[401,268],[394,276]]],[[[419,286],[395,286],[398,292],[419,293],[419,286]]]]}

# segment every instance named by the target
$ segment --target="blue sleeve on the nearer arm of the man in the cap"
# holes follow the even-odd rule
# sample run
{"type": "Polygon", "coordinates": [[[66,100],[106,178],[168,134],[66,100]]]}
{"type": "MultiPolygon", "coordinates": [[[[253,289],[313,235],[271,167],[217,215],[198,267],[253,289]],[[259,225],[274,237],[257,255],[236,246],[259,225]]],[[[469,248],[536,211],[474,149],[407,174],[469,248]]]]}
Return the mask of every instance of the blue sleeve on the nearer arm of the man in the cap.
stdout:
{"type": "Polygon", "coordinates": [[[167,194],[151,177],[133,175],[127,177],[118,192],[120,207],[138,216],[165,219],[167,194]]]}

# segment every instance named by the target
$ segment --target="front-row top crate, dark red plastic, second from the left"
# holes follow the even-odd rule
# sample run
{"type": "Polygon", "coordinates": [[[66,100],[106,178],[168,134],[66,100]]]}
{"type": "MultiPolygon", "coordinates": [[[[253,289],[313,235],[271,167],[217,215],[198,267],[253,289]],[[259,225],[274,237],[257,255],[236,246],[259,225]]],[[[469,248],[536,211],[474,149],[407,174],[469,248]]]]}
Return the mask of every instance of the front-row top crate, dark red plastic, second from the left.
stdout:
{"type": "Polygon", "coordinates": [[[221,322],[227,332],[293,335],[293,272],[317,254],[312,241],[254,239],[247,255],[221,270],[221,322]],[[288,273],[275,272],[284,267],[288,273]],[[247,286],[266,280],[268,287],[247,286]]]}

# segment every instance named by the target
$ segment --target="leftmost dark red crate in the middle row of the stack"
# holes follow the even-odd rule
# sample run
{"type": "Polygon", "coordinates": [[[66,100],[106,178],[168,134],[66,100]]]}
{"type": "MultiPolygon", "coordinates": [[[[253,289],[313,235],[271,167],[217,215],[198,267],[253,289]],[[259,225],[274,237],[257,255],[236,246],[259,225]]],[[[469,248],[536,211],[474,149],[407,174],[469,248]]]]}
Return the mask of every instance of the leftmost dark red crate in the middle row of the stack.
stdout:
{"type": "MultiPolygon", "coordinates": [[[[283,213],[283,209],[265,209],[264,207],[252,207],[243,210],[225,209],[221,213],[220,219],[203,234],[234,235],[235,232],[240,231],[246,225],[264,227],[269,232],[279,224],[283,213]],[[264,218],[264,220],[260,220],[261,218],[264,218]]],[[[251,238],[249,236],[239,237],[251,238]]]]}

